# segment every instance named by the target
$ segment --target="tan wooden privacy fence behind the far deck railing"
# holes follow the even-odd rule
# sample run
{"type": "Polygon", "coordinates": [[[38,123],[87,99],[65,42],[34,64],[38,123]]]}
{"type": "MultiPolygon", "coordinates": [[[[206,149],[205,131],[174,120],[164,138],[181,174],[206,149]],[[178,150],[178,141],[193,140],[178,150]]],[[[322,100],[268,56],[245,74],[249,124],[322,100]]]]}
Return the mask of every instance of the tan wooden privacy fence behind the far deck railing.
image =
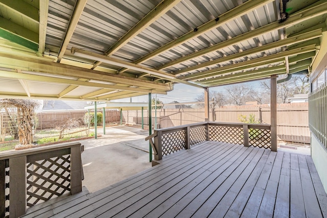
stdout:
{"type": "MultiPolygon", "coordinates": [[[[242,105],[216,108],[215,113],[209,112],[210,120],[226,123],[240,122],[240,115],[254,114],[263,124],[270,124],[270,105],[242,105]]],[[[123,121],[132,124],[141,124],[141,111],[124,111],[123,121]]],[[[155,123],[155,112],[152,112],[152,124],[155,123]]],[[[308,103],[292,103],[277,105],[277,138],[281,141],[290,141],[310,144],[308,103]]],[[[204,122],[204,109],[158,109],[157,124],[159,128],[168,128],[204,122]]],[[[148,124],[148,111],[144,110],[144,124],[148,124]]]]}

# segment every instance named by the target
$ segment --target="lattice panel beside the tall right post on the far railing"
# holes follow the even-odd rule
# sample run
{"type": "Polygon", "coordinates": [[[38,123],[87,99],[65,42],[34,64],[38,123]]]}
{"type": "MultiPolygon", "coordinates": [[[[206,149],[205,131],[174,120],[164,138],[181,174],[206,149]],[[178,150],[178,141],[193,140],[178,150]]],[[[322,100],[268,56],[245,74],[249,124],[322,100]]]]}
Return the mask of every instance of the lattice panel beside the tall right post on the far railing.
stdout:
{"type": "Polygon", "coordinates": [[[270,130],[249,129],[249,145],[253,147],[271,149],[270,130]]]}

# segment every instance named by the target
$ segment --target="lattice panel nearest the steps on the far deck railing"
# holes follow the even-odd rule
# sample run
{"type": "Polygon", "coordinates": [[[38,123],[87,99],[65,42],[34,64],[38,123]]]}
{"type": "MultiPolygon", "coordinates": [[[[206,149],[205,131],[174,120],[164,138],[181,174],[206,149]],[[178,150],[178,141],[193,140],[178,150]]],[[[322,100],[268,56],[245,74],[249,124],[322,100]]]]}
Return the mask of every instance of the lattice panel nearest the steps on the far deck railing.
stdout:
{"type": "Polygon", "coordinates": [[[185,149],[185,131],[163,134],[161,138],[162,156],[185,149]]]}

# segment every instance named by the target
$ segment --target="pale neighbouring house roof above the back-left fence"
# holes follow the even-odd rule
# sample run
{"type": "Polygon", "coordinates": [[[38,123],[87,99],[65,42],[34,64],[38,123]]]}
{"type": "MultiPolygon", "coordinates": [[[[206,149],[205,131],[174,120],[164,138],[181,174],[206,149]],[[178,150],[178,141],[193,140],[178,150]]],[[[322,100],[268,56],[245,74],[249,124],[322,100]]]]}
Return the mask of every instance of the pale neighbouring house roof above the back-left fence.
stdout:
{"type": "Polygon", "coordinates": [[[43,100],[42,110],[84,110],[87,102],[81,101],[46,101],[43,100]]]}

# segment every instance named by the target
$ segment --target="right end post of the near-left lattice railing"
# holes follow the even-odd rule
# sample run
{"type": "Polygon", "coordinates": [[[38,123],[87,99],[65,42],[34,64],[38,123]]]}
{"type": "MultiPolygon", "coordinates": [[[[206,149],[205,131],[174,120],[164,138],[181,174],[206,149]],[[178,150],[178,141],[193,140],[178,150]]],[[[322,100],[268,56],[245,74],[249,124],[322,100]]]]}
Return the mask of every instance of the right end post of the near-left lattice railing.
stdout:
{"type": "MultiPolygon", "coordinates": [[[[71,194],[82,191],[81,144],[71,148],[71,194]]],[[[10,172],[11,173],[11,172],[10,172]]],[[[11,195],[11,194],[10,194],[11,195]]],[[[10,203],[11,205],[11,203],[10,203]]]]}

